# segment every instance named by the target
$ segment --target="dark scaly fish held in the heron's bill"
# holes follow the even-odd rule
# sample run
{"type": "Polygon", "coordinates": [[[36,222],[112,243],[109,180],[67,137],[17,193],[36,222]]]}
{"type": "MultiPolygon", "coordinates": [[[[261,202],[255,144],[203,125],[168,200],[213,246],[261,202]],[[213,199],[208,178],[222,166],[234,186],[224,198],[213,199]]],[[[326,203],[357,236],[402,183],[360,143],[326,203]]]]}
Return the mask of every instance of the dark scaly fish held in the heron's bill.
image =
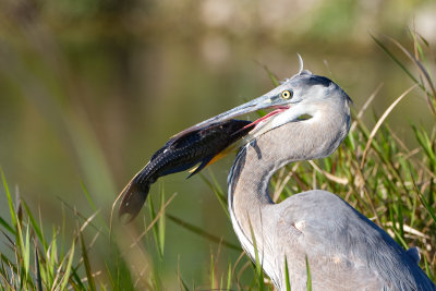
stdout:
{"type": "Polygon", "coordinates": [[[250,121],[227,120],[194,131],[182,132],[157,150],[150,161],[123,190],[119,215],[129,215],[131,221],[140,213],[150,185],[159,177],[181,172],[199,166],[191,175],[201,171],[228,146],[246,135],[253,128],[250,121]]]}

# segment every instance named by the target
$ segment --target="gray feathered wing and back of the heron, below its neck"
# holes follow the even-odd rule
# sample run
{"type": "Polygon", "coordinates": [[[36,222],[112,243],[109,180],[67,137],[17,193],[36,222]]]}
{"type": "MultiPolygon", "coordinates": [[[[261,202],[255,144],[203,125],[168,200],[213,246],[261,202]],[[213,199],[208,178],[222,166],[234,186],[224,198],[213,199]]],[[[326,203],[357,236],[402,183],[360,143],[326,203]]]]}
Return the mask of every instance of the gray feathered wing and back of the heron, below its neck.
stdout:
{"type": "MultiPolygon", "coordinates": [[[[300,193],[271,206],[265,215],[276,223],[272,243],[282,248],[276,254],[284,253],[288,262],[292,260],[288,264],[293,267],[292,290],[306,290],[304,254],[313,290],[436,290],[417,265],[417,250],[405,252],[331,193],[300,193]]],[[[284,266],[283,258],[274,260],[284,266]]]]}

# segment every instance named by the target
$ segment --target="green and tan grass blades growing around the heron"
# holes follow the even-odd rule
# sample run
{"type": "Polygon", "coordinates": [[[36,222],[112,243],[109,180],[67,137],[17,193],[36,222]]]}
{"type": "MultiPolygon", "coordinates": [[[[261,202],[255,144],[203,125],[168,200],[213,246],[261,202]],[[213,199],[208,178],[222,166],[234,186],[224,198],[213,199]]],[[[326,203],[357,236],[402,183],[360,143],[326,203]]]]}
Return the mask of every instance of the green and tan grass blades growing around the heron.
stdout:
{"type": "MultiPolygon", "coordinates": [[[[373,38],[414,86],[399,94],[385,113],[375,118],[375,126],[370,128],[364,122],[367,111],[354,108],[352,129],[335,155],[313,162],[289,165],[279,170],[271,181],[271,194],[276,201],[281,201],[293,193],[317,187],[340,195],[388,231],[404,248],[419,246],[421,266],[435,280],[436,126],[426,130],[419,124],[411,124],[409,131],[415,137],[416,146],[410,148],[388,125],[390,112],[403,98],[424,98],[428,111],[423,114],[436,120],[436,92],[434,78],[427,69],[429,58],[426,58],[432,47],[414,33],[411,33],[414,52],[395,39],[373,38]],[[395,52],[397,50],[399,52],[395,52]],[[401,54],[409,61],[400,61],[401,54]]],[[[272,82],[277,82],[269,70],[267,73],[272,82]]],[[[72,122],[65,126],[70,132],[88,136],[82,123],[72,122]],[[76,131],[77,126],[80,131],[76,131]]],[[[76,143],[78,149],[88,147],[86,138],[78,136],[76,140],[83,141],[76,143]]],[[[100,159],[101,155],[96,156],[100,159]]],[[[87,158],[93,157],[83,157],[83,167],[92,171],[87,158]]],[[[104,162],[100,163],[105,167],[104,162]]],[[[217,208],[220,205],[229,217],[226,193],[222,191],[225,185],[220,185],[211,172],[202,178],[215,194],[217,208]]],[[[154,204],[153,199],[148,199],[149,217],[144,218],[140,227],[109,227],[109,221],[97,211],[97,203],[90,195],[93,191],[89,194],[84,187],[83,198],[94,214],[85,217],[74,206],[62,203],[64,217],[48,231],[44,229],[47,226],[44,214],[31,211],[19,192],[11,191],[3,172],[1,181],[2,195],[9,205],[9,217],[0,216],[1,242],[9,252],[0,255],[0,290],[165,290],[166,281],[160,278],[161,264],[166,257],[166,245],[174,243],[166,240],[168,220],[194,235],[201,235],[210,244],[218,244],[218,252],[211,252],[209,264],[204,266],[208,269],[205,281],[192,283],[183,277],[183,266],[178,266],[173,277],[181,290],[272,290],[269,279],[261,269],[262,262],[257,254],[253,264],[239,245],[167,213],[166,208],[173,196],[166,197],[164,185],[160,187],[159,203],[154,204]],[[74,232],[68,233],[65,219],[71,214],[74,215],[75,228],[74,232]],[[156,259],[145,254],[146,244],[156,246],[156,259]],[[108,251],[99,250],[98,245],[109,245],[108,251]],[[221,256],[220,250],[223,247],[239,252],[240,257],[233,262],[221,256]],[[93,264],[95,257],[104,260],[104,265],[93,264]],[[220,268],[218,260],[225,260],[226,264],[221,265],[226,267],[220,268]],[[252,280],[242,280],[242,276],[252,280]]],[[[287,287],[292,288],[289,278],[287,287]]],[[[307,288],[311,289],[310,276],[307,288]]]]}

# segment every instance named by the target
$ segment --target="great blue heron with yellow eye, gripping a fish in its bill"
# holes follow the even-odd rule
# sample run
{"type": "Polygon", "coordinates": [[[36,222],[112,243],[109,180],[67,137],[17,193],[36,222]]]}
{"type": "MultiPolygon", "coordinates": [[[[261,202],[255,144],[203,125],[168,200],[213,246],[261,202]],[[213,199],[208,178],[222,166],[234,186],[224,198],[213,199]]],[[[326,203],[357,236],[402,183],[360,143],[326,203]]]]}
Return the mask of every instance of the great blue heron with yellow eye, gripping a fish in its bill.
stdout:
{"type": "Polygon", "coordinates": [[[306,290],[308,263],[314,290],[436,290],[417,265],[416,248],[404,251],[338,196],[313,190],[279,204],[270,198],[268,183],[279,168],[336,150],[350,129],[349,104],[335,82],[301,69],[269,93],[181,134],[276,109],[256,121],[240,149],[228,178],[228,202],[243,248],[252,259],[257,252],[277,289],[286,290],[287,265],[291,289],[306,290]]]}

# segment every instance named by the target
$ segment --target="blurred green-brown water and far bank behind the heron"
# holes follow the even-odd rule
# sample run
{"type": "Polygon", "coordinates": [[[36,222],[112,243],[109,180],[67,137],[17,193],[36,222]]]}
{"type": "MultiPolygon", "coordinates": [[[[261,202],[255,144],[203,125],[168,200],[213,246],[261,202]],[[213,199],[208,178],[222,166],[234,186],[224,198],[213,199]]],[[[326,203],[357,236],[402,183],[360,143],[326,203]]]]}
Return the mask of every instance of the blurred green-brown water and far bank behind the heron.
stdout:
{"type": "MultiPolygon", "coordinates": [[[[72,209],[94,213],[83,187],[108,222],[119,192],[170,136],[269,90],[264,65],[292,76],[296,52],[356,109],[384,84],[372,104],[382,114],[412,83],[372,35],[413,51],[409,29],[434,44],[435,15],[432,0],[0,0],[0,167],[47,229],[63,216],[73,229],[72,209]]],[[[405,142],[411,121],[433,124],[425,102],[416,92],[389,117],[405,142]]],[[[222,187],[231,163],[211,167],[222,187]]],[[[179,193],[167,211],[238,244],[210,189],[186,175],[162,179],[167,196],[179,193]]],[[[217,250],[168,221],[161,278],[171,287],[180,267],[202,282],[217,250]]],[[[159,259],[156,248],[144,252],[152,265],[159,259]]],[[[222,264],[240,254],[222,252],[222,264]]]]}

